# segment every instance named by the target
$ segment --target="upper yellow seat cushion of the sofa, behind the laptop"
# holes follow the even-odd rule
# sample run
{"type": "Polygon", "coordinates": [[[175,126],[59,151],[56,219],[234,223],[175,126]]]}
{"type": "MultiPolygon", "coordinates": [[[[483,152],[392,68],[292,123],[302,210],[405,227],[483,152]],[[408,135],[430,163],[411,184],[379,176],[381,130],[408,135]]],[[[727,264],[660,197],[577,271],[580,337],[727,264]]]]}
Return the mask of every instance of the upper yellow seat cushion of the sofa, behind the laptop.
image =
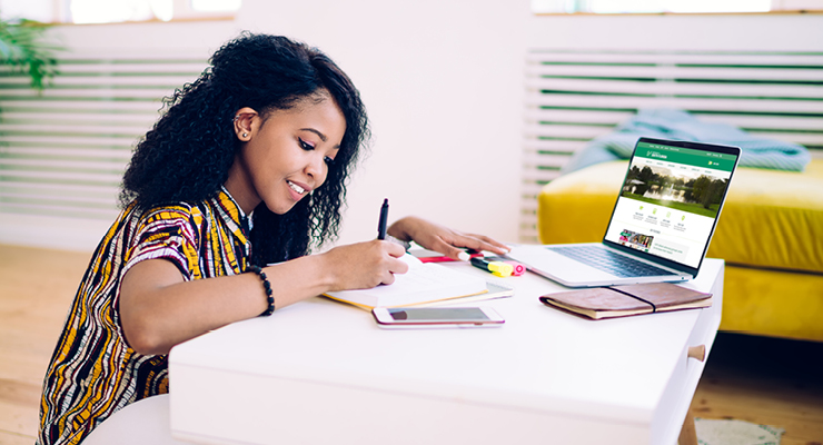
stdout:
{"type": "MultiPolygon", "coordinates": [[[[541,243],[603,239],[626,166],[599,164],[546,185],[538,196],[541,243]]],[[[823,159],[803,172],[738,168],[707,256],[823,273],[823,159]]]]}

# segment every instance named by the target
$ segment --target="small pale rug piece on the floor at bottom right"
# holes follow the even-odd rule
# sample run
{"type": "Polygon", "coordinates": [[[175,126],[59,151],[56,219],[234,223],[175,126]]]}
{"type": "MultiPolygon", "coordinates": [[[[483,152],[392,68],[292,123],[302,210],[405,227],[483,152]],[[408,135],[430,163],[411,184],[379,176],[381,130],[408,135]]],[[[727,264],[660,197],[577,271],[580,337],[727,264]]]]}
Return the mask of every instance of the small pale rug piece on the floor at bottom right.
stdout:
{"type": "Polygon", "coordinates": [[[786,431],[744,421],[694,419],[700,445],[780,445],[786,431]]]}

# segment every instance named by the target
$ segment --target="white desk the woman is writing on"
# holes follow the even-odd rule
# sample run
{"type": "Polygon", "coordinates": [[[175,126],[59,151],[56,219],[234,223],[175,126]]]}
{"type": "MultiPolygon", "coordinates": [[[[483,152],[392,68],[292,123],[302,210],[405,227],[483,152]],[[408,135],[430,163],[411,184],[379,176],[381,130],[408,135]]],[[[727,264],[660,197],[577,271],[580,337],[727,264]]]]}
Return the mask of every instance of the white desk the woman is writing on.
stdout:
{"type": "Polygon", "coordinates": [[[204,444],[675,444],[721,319],[723,261],[685,286],[711,308],[592,322],[544,306],[563,288],[494,278],[502,328],[384,330],[313,298],[170,355],[171,429],[204,444]]]}

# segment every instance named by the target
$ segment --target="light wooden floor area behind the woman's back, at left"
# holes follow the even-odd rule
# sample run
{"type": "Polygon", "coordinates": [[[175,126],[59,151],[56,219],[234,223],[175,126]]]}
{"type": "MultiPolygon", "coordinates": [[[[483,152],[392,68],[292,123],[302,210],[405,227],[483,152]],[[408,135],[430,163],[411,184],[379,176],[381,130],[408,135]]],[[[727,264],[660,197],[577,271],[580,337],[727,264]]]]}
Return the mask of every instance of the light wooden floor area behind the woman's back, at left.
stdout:
{"type": "Polygon", "coordinates": [[[0,245],[0,444],[31,445],[43,374],[90,254],[0,245]]]}

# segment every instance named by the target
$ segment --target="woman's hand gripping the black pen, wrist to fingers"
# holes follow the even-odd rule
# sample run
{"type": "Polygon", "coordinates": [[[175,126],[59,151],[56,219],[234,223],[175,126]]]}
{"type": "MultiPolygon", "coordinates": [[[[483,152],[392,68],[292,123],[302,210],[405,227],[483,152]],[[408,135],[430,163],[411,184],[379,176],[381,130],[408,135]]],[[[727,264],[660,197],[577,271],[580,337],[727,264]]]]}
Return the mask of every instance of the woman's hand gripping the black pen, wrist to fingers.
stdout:
{"type": "Polygon", "coordinates": [[[335,247],[324,254],[333,270],[329,290],[368,289],[395,281],[394,274],[408,271],[408,264],[400,259],[405,249],[385,240],[371,240],[335,247]]]}

